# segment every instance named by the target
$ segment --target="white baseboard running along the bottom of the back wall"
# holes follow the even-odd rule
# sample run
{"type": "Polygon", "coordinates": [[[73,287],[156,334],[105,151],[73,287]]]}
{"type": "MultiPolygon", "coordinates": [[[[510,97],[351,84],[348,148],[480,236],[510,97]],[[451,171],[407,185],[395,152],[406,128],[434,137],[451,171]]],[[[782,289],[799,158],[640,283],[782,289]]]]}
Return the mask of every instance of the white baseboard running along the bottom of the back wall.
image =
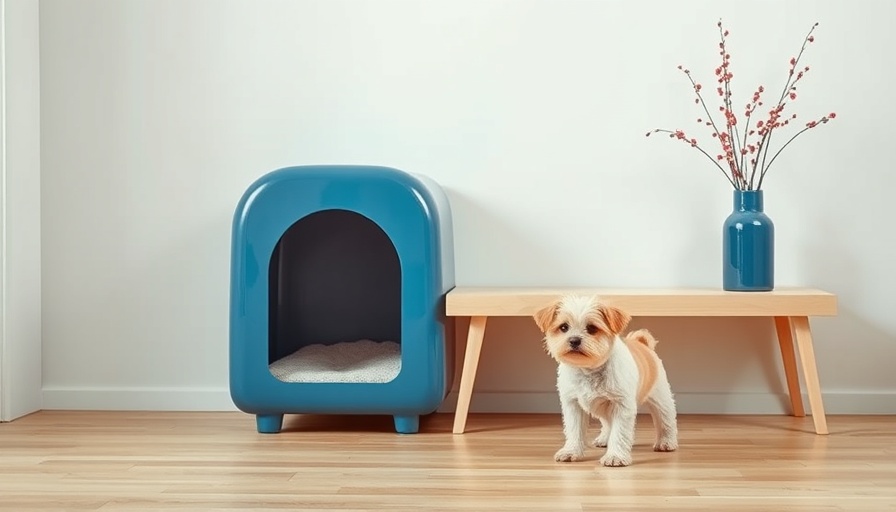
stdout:
{"type": "MultiPolygon", "coordinates": [[[[827,414],[896,414],[896,392],[825,393],[827,414]]],[[[790,400],[773,393],[678,393],[681,414],[786,414],[790,400]]],[[[809,412],[809,400],[803,397],[809,412]]],[[[452,392],[439,412],[454,412],[452,392]]],[[[235,411],[227,388],[74,388],[43,389],[45,410],[235,411]]],[[[555,392],[474,393],[471,413],[559,414],[555,392]]]]}

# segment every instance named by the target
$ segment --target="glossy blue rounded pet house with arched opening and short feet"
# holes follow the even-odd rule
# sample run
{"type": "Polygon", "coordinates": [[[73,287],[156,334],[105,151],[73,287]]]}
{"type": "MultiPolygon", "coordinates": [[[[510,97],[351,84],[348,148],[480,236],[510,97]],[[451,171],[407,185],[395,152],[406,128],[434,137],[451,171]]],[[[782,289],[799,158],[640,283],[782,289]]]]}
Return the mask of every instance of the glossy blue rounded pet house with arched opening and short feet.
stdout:
{"type": "Polygon", "coordinates": [[[387,167],[279,169],[243,194],[232,236],[230,393],[258,431],[314,413],[388,414],[397,432],[417,432],[454,373],[451,211],[438,184],[387,167]],[[288,361],[301,377],[303,354],[337,347],[330,367],[307,371],[338,377],[339,357],[376,370],[363,359],[381,346],[393,348],[385,379],[275,376],[288,361]]]}

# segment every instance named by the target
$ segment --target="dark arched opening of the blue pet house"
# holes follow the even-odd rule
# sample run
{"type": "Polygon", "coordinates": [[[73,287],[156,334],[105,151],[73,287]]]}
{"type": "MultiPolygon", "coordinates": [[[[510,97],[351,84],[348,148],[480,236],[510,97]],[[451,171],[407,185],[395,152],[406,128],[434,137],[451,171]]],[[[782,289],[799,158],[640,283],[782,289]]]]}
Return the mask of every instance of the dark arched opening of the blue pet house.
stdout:
{"type": "Polygon", "coordinates": [[[323,210],[280,237],[268,272],[268,364],[284,382],[389,382],[401,369],[401,264],[367,217],[323,210]]]}

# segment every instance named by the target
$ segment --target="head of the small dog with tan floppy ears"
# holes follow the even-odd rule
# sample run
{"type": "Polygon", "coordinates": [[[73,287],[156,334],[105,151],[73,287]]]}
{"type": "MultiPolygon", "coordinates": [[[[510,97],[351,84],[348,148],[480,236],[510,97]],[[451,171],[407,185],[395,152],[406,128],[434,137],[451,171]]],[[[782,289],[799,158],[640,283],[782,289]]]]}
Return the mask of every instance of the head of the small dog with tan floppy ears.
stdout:
{"type": "Polygon", "coordinates": [[[613,341],[631,321],[624,311],[597,297],[568,295],[538,310],[535,323],[547,352],[558,363],[598,368],[607,362],[613,341]]]}

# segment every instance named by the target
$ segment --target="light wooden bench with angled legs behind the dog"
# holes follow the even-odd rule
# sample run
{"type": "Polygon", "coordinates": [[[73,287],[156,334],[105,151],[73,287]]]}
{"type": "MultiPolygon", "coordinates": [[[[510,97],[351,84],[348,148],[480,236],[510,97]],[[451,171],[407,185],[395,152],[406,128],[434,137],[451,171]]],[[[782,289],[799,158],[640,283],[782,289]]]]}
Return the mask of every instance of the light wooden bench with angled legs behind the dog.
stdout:
{"type": "Polygon", "coordinates": [[[596,294],[635,316],[763,316],[774,319],[784,374],[794,416],[805,416],[796,358],[799,357],[817,434],[827,434],[821,386],[812,348],[810,316],[837,314],[837,297],[812,288],[779,288],[771,292],[726,292],[716,289],[612,289],[612,288],[513,288],[456,287],[448,292],[445,312],[449,317],[469,317],[467,348],[461,374],[454,433],[462,434],[470,410],[473,381],[485,325],[490,316],[531,317],[539,308],[567,294],[596,294]],[[794,351],[794,340],[799,349],[794,351]]]}

